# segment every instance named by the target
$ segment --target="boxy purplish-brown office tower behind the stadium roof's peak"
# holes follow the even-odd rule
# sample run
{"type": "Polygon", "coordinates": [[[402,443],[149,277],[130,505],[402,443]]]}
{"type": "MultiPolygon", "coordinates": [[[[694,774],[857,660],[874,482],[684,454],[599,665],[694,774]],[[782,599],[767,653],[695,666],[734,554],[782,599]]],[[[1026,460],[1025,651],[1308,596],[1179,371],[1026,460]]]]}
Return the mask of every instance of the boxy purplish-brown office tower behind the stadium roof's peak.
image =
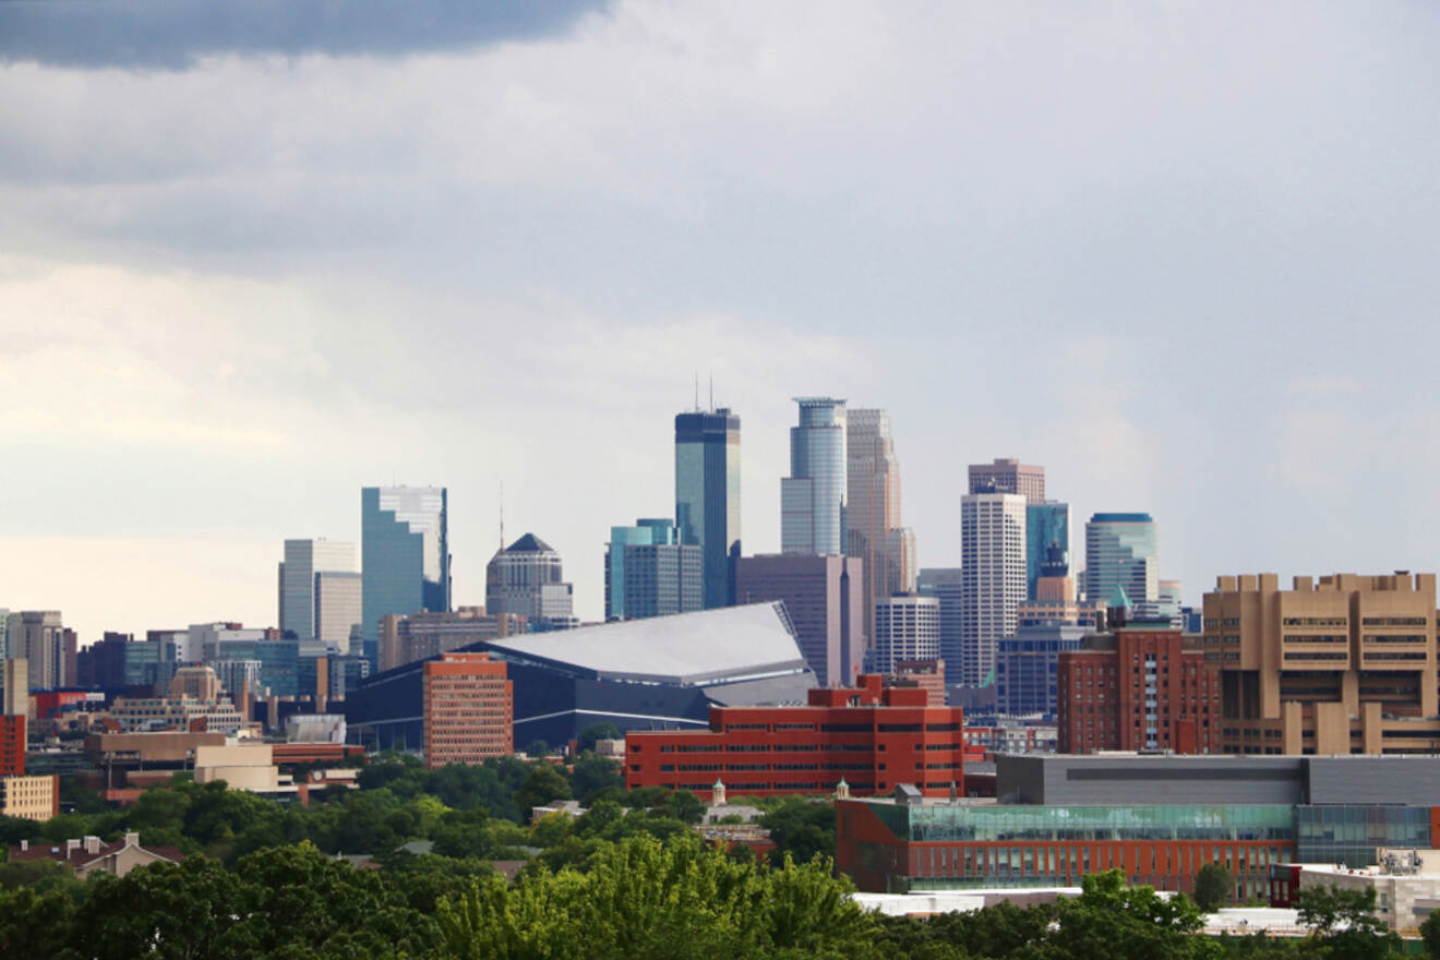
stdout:
{"type": "Polygon", "coordinates": [[[864,560],[762,554],[736,564],[736,603],[783,600],[821,687],[852,682],[865,653],[864,560]]]}

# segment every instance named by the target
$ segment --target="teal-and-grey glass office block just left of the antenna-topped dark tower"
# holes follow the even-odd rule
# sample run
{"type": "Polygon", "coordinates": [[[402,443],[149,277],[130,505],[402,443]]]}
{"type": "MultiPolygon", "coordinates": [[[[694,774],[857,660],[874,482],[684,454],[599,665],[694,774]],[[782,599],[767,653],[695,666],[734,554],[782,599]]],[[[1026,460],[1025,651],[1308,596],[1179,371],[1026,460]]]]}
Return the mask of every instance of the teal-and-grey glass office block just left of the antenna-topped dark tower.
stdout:
{"type": "Polygon", "coordinates": [[[680,543],[668,520],[611,527],[605,547],[605,619],[635,620],[704,609],[704,563],[698,545],[680,543]]]}

